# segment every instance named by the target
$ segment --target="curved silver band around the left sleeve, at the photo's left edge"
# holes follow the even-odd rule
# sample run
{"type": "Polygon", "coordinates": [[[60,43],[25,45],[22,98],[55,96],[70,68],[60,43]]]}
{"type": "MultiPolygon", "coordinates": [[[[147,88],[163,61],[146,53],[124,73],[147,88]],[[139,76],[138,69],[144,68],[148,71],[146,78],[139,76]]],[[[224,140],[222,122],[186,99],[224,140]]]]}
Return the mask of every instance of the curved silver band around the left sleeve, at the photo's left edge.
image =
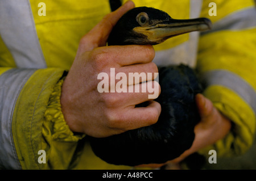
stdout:
{"type": "Polygon", "coordinates": [[[19,93],[34,72],[35,69],[11,69],[0,76],[0,168],[21,169],[11,124],[19,93]]]}

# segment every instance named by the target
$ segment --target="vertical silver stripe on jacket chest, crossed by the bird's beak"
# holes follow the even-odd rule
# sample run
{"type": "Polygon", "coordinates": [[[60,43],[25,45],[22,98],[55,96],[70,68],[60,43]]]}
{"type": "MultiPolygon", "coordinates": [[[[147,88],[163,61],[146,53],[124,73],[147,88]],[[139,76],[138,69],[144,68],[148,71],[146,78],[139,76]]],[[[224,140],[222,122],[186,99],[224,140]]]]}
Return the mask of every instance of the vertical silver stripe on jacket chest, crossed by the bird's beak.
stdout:
{"type": "MultiPolygon", "coordinates": [[[[201,12],[201,0],[190,1],[189,18],[199,18],[201,12]]],[[[177,47],[160,50],[155,53],[154,62],[158,66],[185,64],[191,67],[196,65],[197,44],[199,32],[189,33],[189,40],[177,47]]]]}

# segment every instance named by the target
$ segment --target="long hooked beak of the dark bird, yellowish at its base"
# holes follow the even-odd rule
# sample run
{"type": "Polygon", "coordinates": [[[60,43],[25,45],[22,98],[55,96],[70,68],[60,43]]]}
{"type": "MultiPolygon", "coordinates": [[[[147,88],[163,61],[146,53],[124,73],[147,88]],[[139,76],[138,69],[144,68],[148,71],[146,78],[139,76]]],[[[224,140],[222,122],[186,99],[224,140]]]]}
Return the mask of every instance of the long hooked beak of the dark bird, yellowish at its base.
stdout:
{"type": "Polygon", "coordinates": [[[133,30],[147,36],[152,43],[159,44],[170,37],[182,35],[192,31],[205,31],[212,28],[207,18],[170,19],[151,26],[135,27],[133,30]]]}

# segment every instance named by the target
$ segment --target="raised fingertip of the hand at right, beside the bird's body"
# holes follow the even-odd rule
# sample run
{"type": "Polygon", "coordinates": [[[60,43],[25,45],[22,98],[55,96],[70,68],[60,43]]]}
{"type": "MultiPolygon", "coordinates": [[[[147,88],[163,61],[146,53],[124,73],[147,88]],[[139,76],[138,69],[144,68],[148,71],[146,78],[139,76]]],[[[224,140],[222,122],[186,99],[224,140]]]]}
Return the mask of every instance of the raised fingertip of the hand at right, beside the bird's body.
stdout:
{"type": "Polygon", "coordinates": [[[199,110],[201,119],[212,115],[213,104],[209,99],[205,98],[204,95],[202,94],[196,95],[196,104],[197,104],[197,108],[199,110]]]}

